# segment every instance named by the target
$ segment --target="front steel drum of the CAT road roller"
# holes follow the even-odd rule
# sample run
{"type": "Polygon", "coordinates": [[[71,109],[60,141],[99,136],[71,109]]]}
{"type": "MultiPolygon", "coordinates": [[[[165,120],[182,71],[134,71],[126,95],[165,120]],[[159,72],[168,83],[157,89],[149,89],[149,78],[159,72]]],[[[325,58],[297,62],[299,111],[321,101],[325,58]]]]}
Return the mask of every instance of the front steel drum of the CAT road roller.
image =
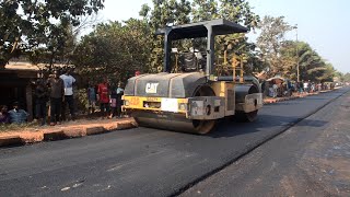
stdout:
{"type": "Polygon", "coordinates": [[[187,119],[182,114],[155,114],[152,112],[133,112],[131,116],[141,127],[166,129],[179,132],[208,134],[215,126],[215,120],[187,119]]]}

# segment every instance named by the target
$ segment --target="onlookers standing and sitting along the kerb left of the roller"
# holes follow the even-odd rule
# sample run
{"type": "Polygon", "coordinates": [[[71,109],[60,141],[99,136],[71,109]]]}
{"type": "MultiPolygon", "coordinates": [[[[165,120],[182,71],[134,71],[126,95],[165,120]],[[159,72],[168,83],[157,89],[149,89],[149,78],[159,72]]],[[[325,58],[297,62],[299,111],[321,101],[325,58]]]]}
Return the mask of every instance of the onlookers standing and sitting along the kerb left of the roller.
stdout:
{"type": "MultiPolygon", "coordinates": [[[[67,105],[70,112],[70,119],[75,120],[75,103],[73,84],[74,77],[72,70],[67,69],[63,74],[55,70],[47,80],[38,79],[35,82],[35,118],[39,125],[47,124],[47,104],[49,103],[49,125],[60,125],[61,120],[66,120],[67,105]]],[[[140,71],[136,71],[135,76],[139,76],[140,71]]],[[[119,118],[121,114],[124,94],[122,83],[118,82],[116,86],[109,85],[108,79],[103,78],[100,84],[89,83],[86,89],[89,114],[100,112],[102,118],[119,118]]],[[[23,124],[27,121],[28,113],[20,108],[20,103],[13,104],[13,109],[8,111],[7,106],[2,106],[0,112],[0,124],[23,124]]]]}

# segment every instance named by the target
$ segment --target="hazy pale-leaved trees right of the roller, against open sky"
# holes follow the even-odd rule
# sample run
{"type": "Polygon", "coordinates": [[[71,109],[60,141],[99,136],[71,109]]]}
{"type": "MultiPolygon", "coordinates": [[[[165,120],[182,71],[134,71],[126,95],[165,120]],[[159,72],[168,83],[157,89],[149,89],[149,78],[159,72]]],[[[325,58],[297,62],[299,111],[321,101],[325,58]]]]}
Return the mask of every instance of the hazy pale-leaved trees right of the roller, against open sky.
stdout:
{"type": "Polygon", "coordinates": [[[295,26],[288,24],[283,16],[265,16],[258,26],[261,33],[257,46],[270,77],[280,74],[296,81],[299,65],[300,80],[332,81],[336,70],[331,63],[326,62],[307,43],[285,38],[285,34],[295,26]]]}

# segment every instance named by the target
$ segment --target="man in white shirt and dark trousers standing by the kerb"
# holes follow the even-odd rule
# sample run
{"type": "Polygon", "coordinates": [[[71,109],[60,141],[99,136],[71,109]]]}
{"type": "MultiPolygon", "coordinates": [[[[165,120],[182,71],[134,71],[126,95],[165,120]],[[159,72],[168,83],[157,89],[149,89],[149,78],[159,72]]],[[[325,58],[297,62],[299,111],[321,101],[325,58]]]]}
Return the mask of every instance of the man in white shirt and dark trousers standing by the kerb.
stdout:
{"type": "Polygon", "coordinates": [[[63,80],[65,83],[65,102],[63,102],[63,119],[66,119],[66,106],[68,103],[71,119],[75,119],[74,114],[74,97],[73,97],[73,83],[75,83],[75,79],[71,76],[71,69],[67,69],[66,73],[59,77],[63,80]]]}

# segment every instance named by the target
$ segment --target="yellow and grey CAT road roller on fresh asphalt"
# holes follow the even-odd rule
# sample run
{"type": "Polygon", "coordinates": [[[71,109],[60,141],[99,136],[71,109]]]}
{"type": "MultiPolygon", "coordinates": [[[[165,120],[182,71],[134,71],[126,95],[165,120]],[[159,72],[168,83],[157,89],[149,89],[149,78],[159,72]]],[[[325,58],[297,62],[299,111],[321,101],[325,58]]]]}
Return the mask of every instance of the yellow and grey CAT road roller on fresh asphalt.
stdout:
{"type": "Polygon", "coordinates": [[[164,36],[163,72],[130,78],[122,112],[139,126],[192,134],[207,134],[218,119],[229,116],[253,121],[262,107],[259,82],[243,76],[240,56],[230,60],[225,50],[219,63],[214,51],[217,35],[247,31],[223,19],[159,30],[156,35],[164,36]],[[176,40],[195,38],[207,42],[202,53],[172,48],[176,40]]]}

